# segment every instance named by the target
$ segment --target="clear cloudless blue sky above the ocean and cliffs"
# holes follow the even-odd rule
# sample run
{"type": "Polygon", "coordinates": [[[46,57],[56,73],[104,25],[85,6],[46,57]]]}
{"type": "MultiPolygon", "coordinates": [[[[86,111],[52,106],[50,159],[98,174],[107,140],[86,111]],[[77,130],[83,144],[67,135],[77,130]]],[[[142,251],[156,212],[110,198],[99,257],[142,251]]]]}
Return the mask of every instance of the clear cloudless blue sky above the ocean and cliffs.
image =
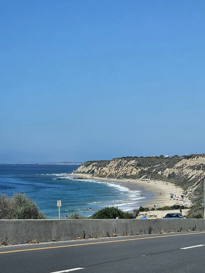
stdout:
{"type": "Polygon", "coordinates": [[[205,1],[1,1],[0,162],[205,152],[205,1]]]}

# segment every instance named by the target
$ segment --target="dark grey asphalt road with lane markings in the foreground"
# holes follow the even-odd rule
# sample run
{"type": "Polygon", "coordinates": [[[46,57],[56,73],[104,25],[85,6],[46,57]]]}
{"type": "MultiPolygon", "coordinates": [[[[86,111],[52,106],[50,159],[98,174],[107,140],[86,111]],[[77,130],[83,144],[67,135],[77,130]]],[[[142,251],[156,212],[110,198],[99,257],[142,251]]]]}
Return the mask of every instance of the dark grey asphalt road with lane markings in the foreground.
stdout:
{"type": "Polygon", "coordinates": [[[0,272],[204,273],[204,257],[205,232],[165,233],[1,247],[0,272]]]}

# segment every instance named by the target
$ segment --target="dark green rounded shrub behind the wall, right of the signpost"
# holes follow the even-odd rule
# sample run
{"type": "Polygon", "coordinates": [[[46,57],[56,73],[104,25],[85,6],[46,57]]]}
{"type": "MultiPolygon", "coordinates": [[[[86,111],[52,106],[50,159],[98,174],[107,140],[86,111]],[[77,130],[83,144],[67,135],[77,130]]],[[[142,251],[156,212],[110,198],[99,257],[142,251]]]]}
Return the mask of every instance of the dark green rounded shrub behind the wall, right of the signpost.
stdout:
{"type": "Polygon", "coordinates": [[[91,219],[134,219],[134,216],[129,212],[124,212],[117,207],[105,207],[102,210],[95,212],[91,219]]]}

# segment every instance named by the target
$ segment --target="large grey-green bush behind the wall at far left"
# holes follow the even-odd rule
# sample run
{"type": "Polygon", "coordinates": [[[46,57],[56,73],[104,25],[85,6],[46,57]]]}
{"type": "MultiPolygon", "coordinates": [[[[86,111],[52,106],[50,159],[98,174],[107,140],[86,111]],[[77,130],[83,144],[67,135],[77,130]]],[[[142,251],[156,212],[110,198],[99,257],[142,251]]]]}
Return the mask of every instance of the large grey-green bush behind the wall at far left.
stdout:
{"type": "Polygon", "coordinates": [[[25,193],[15,193],[13,197],[0,195],[0,219],[46,219],[46,216],[25,193]]]}

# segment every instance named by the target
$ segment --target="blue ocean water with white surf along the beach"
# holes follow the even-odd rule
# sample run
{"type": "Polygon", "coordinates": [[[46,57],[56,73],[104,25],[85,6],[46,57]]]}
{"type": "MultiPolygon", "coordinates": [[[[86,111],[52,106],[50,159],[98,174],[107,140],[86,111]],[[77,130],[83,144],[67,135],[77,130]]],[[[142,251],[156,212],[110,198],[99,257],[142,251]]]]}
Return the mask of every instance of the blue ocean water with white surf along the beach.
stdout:
{"type": "Polygon", "coordinates": [[[0,194],[26,193],[48,219],[58,218],[57,200],[62,201],[61,216],[74,212],[91,215],[107,205],[124,210],[139,207],[140,190],[129,190],[123,183],[96,180],[58,180],[69,178],[79,165],[0,164],[0,194]],[[90,211],[90,207],[92,211],[90,211]]]}

